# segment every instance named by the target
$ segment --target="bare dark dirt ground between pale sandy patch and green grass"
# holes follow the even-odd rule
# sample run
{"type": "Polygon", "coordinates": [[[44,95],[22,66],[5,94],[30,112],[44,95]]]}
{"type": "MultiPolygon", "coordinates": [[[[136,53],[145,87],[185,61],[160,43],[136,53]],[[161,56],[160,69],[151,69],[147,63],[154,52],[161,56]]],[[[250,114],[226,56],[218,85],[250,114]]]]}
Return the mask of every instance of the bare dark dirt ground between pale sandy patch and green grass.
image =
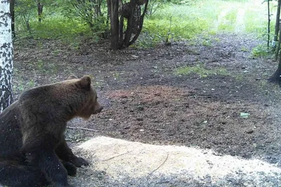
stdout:
{"type": "Polygon", "coordinates": [[[258,44],[251,36],[219,34],[115,52],[105,41],[85,41],[78,49],[56,41],[16,41],[15,99],[26,88],[89,74],[105,109],[89,121],[69,123],[98,130],[67,130],[72,145],[106,136],[197,146],[281,167],[280,88],[266,82],[277,62],[253,57],[258,44]],[[176,74],[187,66],[223,68],[226,74],[176,74]]]}

